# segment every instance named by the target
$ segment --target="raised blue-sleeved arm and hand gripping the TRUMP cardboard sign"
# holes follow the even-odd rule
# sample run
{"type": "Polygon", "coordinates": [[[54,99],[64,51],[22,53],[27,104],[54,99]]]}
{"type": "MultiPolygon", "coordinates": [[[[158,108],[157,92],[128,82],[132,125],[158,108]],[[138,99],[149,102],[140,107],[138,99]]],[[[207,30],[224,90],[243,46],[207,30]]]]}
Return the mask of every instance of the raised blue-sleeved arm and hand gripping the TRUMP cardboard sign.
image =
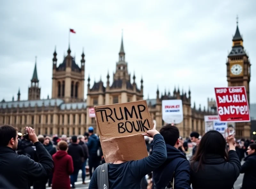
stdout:
{"type": "Polygon", "coordinates": [[[167,158],[166,146],[162,135],[156,130],[149,130],[147,133],[148,136],[153,136],[154,138],[152,154],[141,160],[132,161],[130,164],[132,175],[137,179],[144,177],[161,166],[167,158]]]}

